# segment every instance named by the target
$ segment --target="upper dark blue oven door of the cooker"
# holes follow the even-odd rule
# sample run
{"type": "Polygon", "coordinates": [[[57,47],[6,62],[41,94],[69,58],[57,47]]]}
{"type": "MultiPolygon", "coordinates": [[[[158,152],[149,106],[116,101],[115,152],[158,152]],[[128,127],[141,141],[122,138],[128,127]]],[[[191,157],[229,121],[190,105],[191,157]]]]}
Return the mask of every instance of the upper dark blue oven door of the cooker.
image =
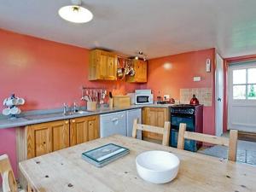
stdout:
{"type": "Polygon", "coordinates": [[[172,129],[178,130],[179,124],[186,124],[186,131],[195,131],[195,116],[191,114],[172,113],[171,125],[172,129]]]}

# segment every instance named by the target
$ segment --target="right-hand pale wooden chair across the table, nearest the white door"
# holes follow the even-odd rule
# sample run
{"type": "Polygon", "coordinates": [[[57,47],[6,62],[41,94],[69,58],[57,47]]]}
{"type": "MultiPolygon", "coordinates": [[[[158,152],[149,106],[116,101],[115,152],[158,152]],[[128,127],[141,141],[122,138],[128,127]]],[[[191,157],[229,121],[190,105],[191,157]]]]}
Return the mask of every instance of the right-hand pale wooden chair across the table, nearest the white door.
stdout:
{"type": "Polygon", "coordinates": [[[229,160],[236,161],[238,131],[230,130],[230,138],[216,137],[212,135],[186,131],[186,124],[179,125],[177,148],[184,148],[184,140],[190,139],[198,142],[212,143],[216,145],[223,145],[229,148],[229,160]]]}

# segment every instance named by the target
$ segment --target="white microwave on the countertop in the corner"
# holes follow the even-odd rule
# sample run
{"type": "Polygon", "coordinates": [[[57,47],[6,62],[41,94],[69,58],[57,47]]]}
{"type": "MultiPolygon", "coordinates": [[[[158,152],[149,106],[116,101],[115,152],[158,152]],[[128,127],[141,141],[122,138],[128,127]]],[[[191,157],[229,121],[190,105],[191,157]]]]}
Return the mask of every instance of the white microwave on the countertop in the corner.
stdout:
{"type": "Polygon", "coordinates": [[[135,104],[153,104],[154,96],[151,90],[135,90],[135,104]]]}

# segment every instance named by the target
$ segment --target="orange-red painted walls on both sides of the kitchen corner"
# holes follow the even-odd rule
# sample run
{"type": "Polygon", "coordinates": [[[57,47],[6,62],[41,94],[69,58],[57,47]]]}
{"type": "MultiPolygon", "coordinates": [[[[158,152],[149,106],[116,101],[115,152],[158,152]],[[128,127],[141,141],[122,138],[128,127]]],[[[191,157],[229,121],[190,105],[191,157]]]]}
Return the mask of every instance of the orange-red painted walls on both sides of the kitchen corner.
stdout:
{"type": "MultiPolygon", "coordinates": [[[[1,29],[0,42],[0,102],[14,92],[26,99],[22,109],[61,108],[63,102],[79,101],[82,85],[115,89],[116,93],[131,92],[141,87],[122,81],[88,81],[88,49],[1,29]]],[[[179,96],[180,88],[212,87],[212,73],[205,73],[207,58],[214,58],[214,49],[150,60],[148,84],[142,87],[152,89],[155,96],[160,90],[161,95],[171,94],[174,98],[179,96]],[[170,70],[163,68],[166,62],[172,63],[170,70]],[[201,76],[202,81],[193,82],[193,76],[201,76]]],[[[0,105],[0,111],[2,109],[0,105]]],[[[204,131],[213,133],[213,107],[204,110],[204,131]]],[[[15,145],[15,128],[0,130],[0,154],[9,154],[16,171],[15,145]]]]}

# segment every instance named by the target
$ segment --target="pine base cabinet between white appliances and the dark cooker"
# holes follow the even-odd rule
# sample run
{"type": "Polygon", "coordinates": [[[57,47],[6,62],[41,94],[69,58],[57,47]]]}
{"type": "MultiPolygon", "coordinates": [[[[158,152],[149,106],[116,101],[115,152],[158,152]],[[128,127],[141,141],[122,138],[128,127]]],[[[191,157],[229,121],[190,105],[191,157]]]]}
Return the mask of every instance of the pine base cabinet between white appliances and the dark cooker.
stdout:
{"type": "MultiPolygon", "coordinates": [[[[168,108],[143,108],[143,124],[164,127],[169,120],[168,108]]],[[[157,133],[143,131],[143,137],[162,140],[163,136],[157,133]]]]}

